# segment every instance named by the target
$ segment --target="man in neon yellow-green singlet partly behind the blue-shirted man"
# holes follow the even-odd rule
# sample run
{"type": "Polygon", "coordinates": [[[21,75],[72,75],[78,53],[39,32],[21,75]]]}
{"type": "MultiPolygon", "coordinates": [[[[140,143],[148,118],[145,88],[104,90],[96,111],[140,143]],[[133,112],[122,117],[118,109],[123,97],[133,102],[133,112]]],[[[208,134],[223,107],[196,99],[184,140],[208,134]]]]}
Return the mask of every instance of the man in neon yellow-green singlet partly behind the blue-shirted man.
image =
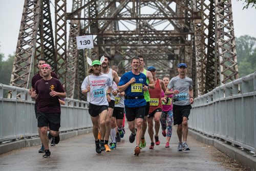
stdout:
{"type": "MultiPolygon", "coordinates": [[[[146,83],[149,86],[148,88],[154,89],[155,83],[154,83],[152,74],[150,71],[144,69],[145,61],[143,56],[138,56],[138,57],[140,59],[140,72],[146,76],[146,83]]],[[[148,92],[148,90],[144,91],[144,97],[146,100],[146,110],[145,110],[145,115],[144,115],[144,120],[142,125],[142,136],[141,136],[140,148],[145,148],[146,146],[145,133],[147,128],[147,114],[148,114],[148,111],[150,110],[150,93],[148,92]]]]}

